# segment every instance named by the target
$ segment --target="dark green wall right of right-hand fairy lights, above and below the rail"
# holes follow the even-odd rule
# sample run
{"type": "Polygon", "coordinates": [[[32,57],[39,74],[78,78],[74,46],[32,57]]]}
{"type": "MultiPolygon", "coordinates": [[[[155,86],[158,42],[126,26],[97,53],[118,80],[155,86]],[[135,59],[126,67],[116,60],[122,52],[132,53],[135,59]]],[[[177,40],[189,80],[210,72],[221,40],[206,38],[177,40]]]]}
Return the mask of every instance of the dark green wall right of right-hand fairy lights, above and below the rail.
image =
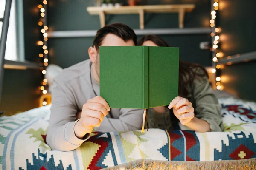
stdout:
{"type": "MultiPolygon", "coordinates": [[[[256,51],[256,1],[221,0],[219,26],[224,56],[256,51]]],[[[256,101],[256,62],[227,65],[221,70],[222,85],[230,93],[256,101]]]]}

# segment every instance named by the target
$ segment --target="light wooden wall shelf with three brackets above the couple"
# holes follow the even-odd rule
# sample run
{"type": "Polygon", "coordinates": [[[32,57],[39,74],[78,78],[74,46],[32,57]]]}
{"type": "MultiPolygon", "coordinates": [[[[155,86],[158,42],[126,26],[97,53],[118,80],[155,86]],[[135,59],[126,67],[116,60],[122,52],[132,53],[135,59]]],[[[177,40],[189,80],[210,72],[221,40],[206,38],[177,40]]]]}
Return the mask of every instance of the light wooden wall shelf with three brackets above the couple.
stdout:
{"type": "Polygon", "coordinates": [[[99,15],[101,27],[105,26],[105,14],[139,14],[140,29],[144,29],[145,13],[178,13],[179,27],[184,26],[186,12],[191,12],[194,4],[187,5],[148,5],[148,6],[121,6],[121,7],[87,7],[91,15],[99,15]]]}

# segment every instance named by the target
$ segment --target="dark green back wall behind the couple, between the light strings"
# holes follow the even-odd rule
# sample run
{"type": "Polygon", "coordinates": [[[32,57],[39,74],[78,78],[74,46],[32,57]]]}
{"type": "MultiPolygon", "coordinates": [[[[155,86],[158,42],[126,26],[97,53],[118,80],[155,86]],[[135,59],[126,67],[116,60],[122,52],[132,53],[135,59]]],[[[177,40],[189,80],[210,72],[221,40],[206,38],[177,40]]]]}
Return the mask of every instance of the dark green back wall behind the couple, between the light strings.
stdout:
{"type": "MultiPolygon", "coordinates": [[[[125,1],[126,2],[126,1],[125,1]]],[[[163,4],[163,0],[141,0],[141,5],[163,4]]],[[[167,1],[166,1],[167,2],[167,1]]],[[[169,1],[170,2],[170,1],[169,1]]],[[[192,13],[185,15],[184,28],[208,28],[210,20],[210,0],[172,0],[172,4],[195,3],[192,13]]],[[[86,8],[93,6],[93,0],[55,0],[50,1],[48,25],[54,31],[96,30],[100,28],[99,16],[90,15],[86,8]]],[[[121,22],[133,29],[139,29],[139,16],[107,15],[106,23],[121,22]]],[[[178,28],[178,14],[145,14],[145,28],[178,28]]],[[[180,47],[180,58],[188,62],[197,62],[204,66],[211,65],[211,52],[199,49],[199,43],[210,41],[205,35],[162,35],[171,46],[180,47]]],[[[88,48],[93,37],[50,38],[50,63],[67,68],[88,59],[88,48]]]]}

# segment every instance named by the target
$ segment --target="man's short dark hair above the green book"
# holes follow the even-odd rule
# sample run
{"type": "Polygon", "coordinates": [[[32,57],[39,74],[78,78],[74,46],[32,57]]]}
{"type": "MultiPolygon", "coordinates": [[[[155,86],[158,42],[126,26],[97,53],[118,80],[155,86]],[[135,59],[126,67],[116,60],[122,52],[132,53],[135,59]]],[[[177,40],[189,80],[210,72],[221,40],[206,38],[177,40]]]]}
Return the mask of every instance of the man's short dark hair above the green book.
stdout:
{"type": "Polygon", "coordinates": [[[133,40],[134,44],[137,45],[137,35],[134,33],[133,29],[122,23],[113,23],[97,31],[93,40],[93,46],[95,46],[96,50],[99,50],[99,46],[102,44],[107,34],[114,34],[122,38],[125,42],[133,40]]]}

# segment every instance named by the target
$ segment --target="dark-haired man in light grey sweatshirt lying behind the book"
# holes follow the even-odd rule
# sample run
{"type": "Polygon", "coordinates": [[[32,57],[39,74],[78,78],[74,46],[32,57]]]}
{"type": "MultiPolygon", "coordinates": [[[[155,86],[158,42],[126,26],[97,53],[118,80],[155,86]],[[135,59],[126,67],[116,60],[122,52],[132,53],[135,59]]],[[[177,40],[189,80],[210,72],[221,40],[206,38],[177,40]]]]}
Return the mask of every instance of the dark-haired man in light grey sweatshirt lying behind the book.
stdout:
{"type": "Polygon", "coordinates": [[[102,132],[141,129],[143,110],[110,109],[99,96],[99,46],[134,45],[137,36],[128,26],[121,23],[105,26],[97,31],[88,50],[90,59],[64,69],[55,78],[46,139],[52,150],[76,149],[93,129],[102,132]],[[76,120],[78,112],[81,118],[76,120]]]}

